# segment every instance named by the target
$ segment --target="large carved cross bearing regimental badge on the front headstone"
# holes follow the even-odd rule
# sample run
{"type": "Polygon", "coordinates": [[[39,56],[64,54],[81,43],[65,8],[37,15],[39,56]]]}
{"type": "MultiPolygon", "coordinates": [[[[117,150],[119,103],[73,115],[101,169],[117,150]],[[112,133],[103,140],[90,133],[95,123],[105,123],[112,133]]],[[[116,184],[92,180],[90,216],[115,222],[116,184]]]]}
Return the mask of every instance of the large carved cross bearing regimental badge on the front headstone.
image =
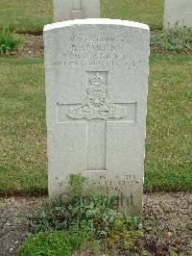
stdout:
{"type": "Polygon", "coordinates": [[[108,72],[87,72],[82,104],[58,103],[58,123],[86,122],[86,170],[107,170],[108,125],[136,122],[136,103],[113,103],[108,72]]]}

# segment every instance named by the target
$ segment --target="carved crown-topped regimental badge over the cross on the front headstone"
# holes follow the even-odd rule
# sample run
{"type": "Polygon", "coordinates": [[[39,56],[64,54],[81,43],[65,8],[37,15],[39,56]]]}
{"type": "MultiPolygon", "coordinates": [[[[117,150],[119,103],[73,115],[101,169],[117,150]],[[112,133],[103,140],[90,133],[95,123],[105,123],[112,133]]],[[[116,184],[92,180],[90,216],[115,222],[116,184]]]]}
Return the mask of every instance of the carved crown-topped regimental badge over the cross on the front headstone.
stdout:
{"type": "Polygon", "coordinates": [[[98,72],[88,81],[82,106],[69,109],[67,115],[72,119],[118,119],[127,116],[128,111],[111,102],[107,81],[98,72]]]}

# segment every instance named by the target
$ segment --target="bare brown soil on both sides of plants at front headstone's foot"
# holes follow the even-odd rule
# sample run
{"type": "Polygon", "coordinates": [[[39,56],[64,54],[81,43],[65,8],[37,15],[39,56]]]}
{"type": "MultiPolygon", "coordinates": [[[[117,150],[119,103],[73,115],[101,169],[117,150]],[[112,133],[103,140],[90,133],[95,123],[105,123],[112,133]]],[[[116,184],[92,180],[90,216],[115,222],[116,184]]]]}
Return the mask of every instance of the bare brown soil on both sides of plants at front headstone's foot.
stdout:
{"type": "MultiPolygon", "coordinates": [[[[19,243],[26,237],[28,217],[42,205],[45,199],[45,197],[0,199],[0,255],[15,255],[19,243]]],[[[167,255],[169,249],[182,251],[181,255],[186,255],[186,251],[192,252],[192,194],[182,192],[146,194],[143,222],[145,233],[143,246],[151,251],[152,255],[167,255]]],[[[108,255],[128,254],[115,250],[108,255]]]]}

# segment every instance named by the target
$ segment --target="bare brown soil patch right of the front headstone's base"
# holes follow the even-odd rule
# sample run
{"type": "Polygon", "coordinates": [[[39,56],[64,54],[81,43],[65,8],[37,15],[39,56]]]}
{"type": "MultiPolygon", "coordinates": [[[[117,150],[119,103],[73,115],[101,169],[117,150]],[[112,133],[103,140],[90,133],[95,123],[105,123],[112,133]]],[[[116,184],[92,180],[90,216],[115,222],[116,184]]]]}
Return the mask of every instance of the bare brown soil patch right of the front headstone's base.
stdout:
{"type": "Polygon", "coordinates": [[[144,202],[144,245],[154,255],[192,253],[192,194],[152,193],[144,202]]]}

